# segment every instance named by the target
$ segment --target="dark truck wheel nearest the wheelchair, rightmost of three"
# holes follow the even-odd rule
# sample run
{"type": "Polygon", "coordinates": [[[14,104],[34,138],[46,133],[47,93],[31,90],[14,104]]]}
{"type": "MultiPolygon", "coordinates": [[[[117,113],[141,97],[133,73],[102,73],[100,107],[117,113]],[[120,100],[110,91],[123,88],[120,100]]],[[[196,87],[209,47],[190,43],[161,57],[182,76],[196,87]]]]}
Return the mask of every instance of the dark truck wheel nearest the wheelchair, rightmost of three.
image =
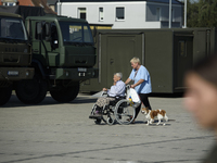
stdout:
{"type": "Polygon", "coordinates": [[[60,90],[51,90],[51,97],[58,102],[71,102],[79,92],[79,83],[72,87],[64,87],[60,90]]]}

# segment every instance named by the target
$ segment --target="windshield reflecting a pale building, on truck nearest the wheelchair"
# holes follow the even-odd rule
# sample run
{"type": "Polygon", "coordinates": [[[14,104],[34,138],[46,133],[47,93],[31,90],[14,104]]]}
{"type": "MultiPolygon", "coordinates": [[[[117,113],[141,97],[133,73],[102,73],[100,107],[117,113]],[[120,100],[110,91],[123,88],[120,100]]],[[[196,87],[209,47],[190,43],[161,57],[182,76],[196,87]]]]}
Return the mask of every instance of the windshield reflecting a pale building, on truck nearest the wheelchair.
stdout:
{"type": "Polygon", "coordinates": [[[60,22],[64,43],[93,45],[92,34],[88,24],[60,22]]]}

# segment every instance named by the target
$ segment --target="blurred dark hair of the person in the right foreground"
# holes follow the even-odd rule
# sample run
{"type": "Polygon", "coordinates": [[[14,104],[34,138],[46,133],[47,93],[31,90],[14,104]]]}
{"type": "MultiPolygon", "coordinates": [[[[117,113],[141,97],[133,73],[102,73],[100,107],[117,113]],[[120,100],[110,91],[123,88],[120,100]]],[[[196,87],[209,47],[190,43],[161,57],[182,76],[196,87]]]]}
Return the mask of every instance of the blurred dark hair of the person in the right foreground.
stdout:
{"type": "Polygon", "coordinates": [[[197,62],[190,72],[196,73],[203,79],[217,87],[217,54],[209,55],[205,60],[197,62]]]}

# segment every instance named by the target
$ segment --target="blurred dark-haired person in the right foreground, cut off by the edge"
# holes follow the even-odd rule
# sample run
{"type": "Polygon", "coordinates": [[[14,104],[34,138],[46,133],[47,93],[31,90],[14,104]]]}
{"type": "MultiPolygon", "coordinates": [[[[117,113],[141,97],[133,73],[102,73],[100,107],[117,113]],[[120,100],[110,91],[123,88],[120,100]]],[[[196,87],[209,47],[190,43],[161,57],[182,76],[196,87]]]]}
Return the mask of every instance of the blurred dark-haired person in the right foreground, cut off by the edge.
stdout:
{"type": "MultiPolygon", "coordinates": [[[[190,70],[186,75],[186,108],[202,127],[214,130],[217,138],[217,54],[190,70]]],[[[217,142],[203,163],[217,163],[217,142]]]]}

